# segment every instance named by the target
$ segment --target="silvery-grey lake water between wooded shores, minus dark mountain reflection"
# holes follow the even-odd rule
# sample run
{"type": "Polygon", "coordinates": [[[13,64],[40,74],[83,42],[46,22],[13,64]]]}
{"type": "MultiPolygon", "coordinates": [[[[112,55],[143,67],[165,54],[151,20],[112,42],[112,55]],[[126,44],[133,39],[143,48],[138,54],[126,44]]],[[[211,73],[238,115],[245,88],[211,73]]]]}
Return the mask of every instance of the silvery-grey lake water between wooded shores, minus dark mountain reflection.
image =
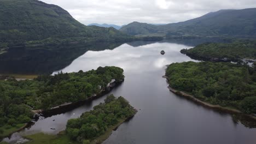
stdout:
{"type": "MultiPolygon", "coordinates": [[[[141,110],[113,131],[104,143],[256,143],[256,129],[235,123],[229,114],[205,109],[168,91],[162,78],[165,65],[193,61],[179,52],[191,46],[193,44],[157,42],[123,44],[113,50],[87,51],[61,70],[86,71],[105,65],[124,69],[124,83],[111,93],[122,95],[141,110]],[[165,55],[160,54],[161,50],[165,55]]],[[[30,129],[14,134],[11,140],[16,142],[21,135],[38,132],[57,134],[65,129],[68,119],[79,117],[104,98],[106,96],[61,115],[41,117],[30,129]]]]}

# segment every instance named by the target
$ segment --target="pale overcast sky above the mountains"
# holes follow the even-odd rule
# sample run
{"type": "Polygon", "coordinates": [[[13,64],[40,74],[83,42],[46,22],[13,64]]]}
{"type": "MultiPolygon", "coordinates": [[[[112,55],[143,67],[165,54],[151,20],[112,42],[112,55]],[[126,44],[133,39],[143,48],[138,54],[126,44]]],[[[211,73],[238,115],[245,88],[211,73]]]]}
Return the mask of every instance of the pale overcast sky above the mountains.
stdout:
{"type": "Polygon", "coordinates": [[[88,25],[124,25],[133,21],[173,23],[193,19],[219,9],[255,8],[255,0],[41,0],[66,9],[88,25]]]}

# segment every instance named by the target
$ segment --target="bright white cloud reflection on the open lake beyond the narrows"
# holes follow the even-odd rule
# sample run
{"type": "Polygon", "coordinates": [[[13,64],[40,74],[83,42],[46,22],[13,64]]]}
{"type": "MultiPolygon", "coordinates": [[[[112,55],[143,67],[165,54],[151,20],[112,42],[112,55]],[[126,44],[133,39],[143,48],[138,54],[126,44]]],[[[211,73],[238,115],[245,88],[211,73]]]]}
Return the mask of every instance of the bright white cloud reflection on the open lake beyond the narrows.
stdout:
{"type": "MultiPolygon", "coordinates": [[[[113,50],[88,51],[62,71],[71,73],[113,65],[123,68],[125,73],[144,73],[159,70],[173,62],[191,61],[189,57],[179,52],[181,49],[188,48],[190,46],[174,43],[154,43],[142,46],[123,44],[113,50]],[[160,54],[161,50],[166,52],[165,55],[160,54]]],[[[54,74],[57,72],[55,71],[54,74]]]]}

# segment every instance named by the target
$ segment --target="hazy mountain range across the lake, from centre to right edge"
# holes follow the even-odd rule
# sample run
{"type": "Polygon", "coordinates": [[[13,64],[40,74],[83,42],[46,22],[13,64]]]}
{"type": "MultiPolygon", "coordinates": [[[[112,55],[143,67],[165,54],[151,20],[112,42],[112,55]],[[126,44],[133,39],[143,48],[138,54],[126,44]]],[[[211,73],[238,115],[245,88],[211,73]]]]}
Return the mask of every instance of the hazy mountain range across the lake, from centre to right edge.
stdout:
{"type": "Polygon", "coordinates": [[[138,34],[195,35],[195,36],[236,36],[256,37],[256,8],[241,10],[219,10],[196,19],[170,23],[167,25],[150,25],[132,22],[120,29],[121,32],[138,34]]]}

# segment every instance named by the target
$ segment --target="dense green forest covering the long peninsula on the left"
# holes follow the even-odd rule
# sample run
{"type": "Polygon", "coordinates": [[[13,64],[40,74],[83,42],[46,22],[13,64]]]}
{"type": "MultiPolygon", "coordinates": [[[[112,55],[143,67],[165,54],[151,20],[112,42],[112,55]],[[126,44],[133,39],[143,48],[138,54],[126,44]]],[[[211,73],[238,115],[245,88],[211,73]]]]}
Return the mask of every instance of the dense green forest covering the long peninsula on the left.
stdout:
{"type": "Polygon", "coordinates": [[[0,133],[4,131],[1,127],[7,129],[7,125],[30,121],[32,109],[46,110],[86,100],[100,93],[113,79],[123,81],[123,72],[118,67],[98,67],[86,72],[40,75],[34,80],[3,77],[6,79],[0,80],[0,133]]]}

